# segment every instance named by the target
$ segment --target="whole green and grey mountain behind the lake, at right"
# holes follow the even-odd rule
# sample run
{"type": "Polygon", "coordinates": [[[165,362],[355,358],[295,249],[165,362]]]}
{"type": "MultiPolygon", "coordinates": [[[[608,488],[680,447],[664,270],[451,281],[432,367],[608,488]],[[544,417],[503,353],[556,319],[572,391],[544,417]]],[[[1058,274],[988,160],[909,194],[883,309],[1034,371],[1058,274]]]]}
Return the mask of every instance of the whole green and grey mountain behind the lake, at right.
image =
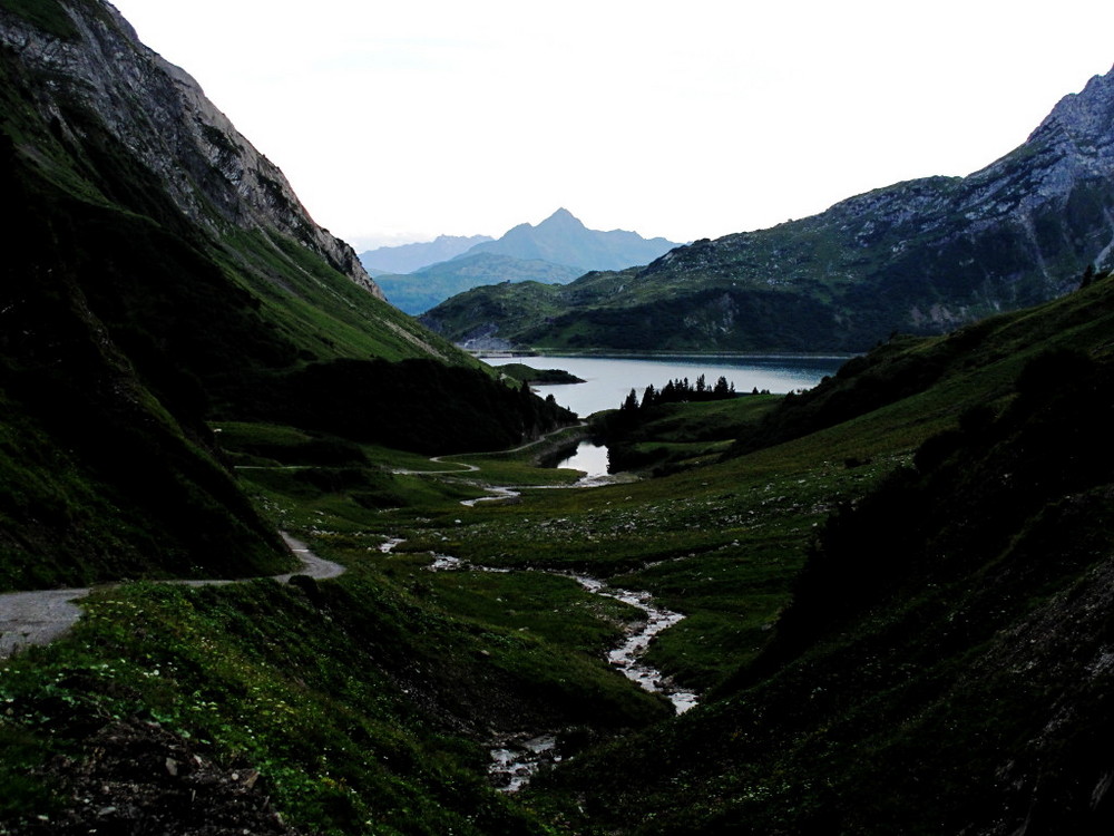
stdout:
{"type": "Polygon", "coordinates": [[[967,177],[900,183],[565,286],[470,291],[422,321],[551,348],[859,351],[1075,288],[1114,249],[1114,74],[967,177]]]}

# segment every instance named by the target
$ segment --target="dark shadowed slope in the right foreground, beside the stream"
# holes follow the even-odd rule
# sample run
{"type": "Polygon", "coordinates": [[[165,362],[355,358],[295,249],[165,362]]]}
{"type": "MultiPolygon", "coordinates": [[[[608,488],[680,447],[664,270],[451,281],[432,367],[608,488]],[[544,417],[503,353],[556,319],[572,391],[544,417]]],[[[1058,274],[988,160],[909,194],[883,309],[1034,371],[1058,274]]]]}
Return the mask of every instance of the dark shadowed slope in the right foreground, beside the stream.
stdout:
{"type": "Polygon", "coordinates": [[[966,351],[907,346],[829,381],[831,399],[882,382],[886,354],[906,356],[891,383],[954,360],[821,438],[961,415],[829,517],[773,643],[704,710],[582,757],[538,801],[583,833],[1108,829],[1112,333],[1106,279],[966,351]]]}

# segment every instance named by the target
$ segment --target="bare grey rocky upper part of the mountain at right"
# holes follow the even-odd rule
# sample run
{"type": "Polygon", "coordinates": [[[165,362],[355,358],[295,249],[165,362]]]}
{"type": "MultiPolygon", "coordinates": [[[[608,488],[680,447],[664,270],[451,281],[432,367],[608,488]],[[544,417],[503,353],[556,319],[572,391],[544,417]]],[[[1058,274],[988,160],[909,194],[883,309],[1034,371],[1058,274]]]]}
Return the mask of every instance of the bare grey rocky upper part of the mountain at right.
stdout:
{"type": "MultiPolygon", "coordinates": [[[[745,269],[756,253],[768,284],[866,281],[892,292],[916,276],[946,291],[941,324],[1036,302],[1069,290],[1088,263],[1111,266],[1112,148],[1114,72],[1065,97],[1025,144],[968,177],[877,189],[812,218],[712,242],[700,259],[759,279],[745,269]],[[813,257],[824,247],[824,261],[813,257]]],[[[906,307],[907,323],[924,311],[924,302],[906,307]]]]}

